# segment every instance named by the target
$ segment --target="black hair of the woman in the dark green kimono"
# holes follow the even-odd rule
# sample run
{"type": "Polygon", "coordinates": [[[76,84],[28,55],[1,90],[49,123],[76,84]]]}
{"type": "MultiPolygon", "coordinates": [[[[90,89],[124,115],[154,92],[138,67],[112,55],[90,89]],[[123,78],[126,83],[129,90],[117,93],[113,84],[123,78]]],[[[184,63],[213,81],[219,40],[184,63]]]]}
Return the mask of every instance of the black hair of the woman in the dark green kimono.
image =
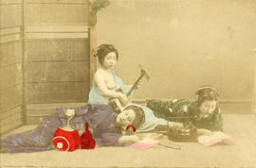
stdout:
{"type": "Polygon", "coordinates": [[[219,100],[219,92],[210,85],[198,88],[195,93],[198,95],[197,103],[199,107],[207,100],[219,100]]]}

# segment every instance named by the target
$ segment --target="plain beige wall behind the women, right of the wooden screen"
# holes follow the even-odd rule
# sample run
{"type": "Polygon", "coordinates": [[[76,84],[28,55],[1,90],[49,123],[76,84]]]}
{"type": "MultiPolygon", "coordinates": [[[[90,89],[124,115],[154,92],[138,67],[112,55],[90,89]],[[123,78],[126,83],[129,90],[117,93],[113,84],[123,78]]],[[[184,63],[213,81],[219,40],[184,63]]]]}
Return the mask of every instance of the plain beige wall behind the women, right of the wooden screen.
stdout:
{"type": "Polygon", "coordinates": [[[135,98],[196,98],[213,85],[222,101],[253,101],[256,1],[111,0],[98,13],[98,44],[119,49],[125,83],[151,77],[135,98]]]}

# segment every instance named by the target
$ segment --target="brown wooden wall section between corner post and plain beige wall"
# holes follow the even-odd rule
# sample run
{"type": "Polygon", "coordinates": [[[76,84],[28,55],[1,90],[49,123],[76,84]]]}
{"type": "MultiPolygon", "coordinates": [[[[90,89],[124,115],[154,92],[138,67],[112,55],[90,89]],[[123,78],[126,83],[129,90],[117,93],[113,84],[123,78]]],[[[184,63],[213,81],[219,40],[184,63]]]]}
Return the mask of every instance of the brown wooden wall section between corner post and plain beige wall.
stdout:
{"type": "MultiPolygon", "coordinates": [[[[25,0],[26,107],[86,101],[89,8],[88,0],[25,0]]],[[[27,124],[38,124],[48,112],[37,111],[31,116],[27,109],[27,124]]]]}

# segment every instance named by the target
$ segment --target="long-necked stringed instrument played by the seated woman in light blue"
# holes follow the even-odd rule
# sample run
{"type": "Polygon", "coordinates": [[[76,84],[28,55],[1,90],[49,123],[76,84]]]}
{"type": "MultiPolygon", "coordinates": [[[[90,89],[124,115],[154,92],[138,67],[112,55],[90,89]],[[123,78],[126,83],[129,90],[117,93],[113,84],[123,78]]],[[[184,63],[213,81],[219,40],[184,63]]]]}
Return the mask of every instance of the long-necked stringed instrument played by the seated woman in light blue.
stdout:
{"type": "MultiPolygon", "coordinates": [[[[149,79],[149,76],[147,75],[146,71],[142,69],[141,65],[139,65],[139,67],[140,67],[140,76],[137,78],[136,82],[134,83],[130,91],[127,92],[126,94],[127,97],[129,97],[129,95],[137,88],[137,83],[143,76],[145,76],[147,80],[149,79]]],[[[122,92],[122,91],[121,89],[119,89],[117,90],[117,92],[122,92]]],[[[123,107],[125,107],[128,103],[129,102],[121,98],[111,98],[108,101],[108,105],[111,106],[113,109],[115,109],[115,111],[117,112],[120,112],[123,109],[123,107]]]]}

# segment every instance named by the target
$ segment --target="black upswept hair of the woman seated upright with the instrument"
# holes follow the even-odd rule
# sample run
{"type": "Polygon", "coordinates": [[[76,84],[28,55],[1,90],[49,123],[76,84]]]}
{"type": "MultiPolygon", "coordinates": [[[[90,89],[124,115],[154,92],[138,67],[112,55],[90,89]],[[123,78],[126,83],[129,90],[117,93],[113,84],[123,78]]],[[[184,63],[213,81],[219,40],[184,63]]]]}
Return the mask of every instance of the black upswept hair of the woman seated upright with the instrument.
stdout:
{"type": "Polygon", "coordinates": [[[116,54],[117,60],[119,59],[119,51],[117,48],[115,48],[112,44],[103,43],[100,46],[98,46],[97,49],[97,56],[99,58],[99,61],[101,65],[103,64],[103,61],[109,53],[114,52],[116,54]]]}

